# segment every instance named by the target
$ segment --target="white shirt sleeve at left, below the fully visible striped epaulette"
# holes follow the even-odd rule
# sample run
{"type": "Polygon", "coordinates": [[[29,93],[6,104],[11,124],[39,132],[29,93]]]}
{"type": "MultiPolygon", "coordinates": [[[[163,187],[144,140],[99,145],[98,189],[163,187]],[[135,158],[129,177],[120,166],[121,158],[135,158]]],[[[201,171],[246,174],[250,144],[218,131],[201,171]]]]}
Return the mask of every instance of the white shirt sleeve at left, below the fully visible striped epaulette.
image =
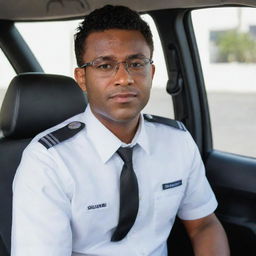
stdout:
{"type": "Polygon", "coordinates": [[[12,256],[71,255],[70,199],[56,170],[41,144],[24,151],[13,182],[12,256]]]}

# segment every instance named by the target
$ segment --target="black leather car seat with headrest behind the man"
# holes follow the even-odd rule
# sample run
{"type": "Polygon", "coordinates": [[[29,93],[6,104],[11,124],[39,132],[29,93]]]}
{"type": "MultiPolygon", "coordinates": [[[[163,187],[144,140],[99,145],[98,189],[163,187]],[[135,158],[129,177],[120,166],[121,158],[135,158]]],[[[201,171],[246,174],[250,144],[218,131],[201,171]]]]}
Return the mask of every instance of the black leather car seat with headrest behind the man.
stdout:
{"type": "Polygon", "coordinates": [[[10,254],[12,181],[24,148],[36,134],[85,107],[86,98],[70,77],[24,73],[11,81],[0,112],[0,256],[10,254]]]}

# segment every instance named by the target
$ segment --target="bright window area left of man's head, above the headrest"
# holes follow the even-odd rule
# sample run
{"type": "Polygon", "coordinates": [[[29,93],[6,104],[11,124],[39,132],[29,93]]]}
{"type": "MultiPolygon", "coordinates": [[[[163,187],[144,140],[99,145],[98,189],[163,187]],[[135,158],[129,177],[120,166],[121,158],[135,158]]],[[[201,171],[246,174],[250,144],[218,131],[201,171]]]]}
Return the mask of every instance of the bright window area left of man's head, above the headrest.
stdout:
{"type": "Polygon", "coordinates": [[[46,73],[73,77],[73,35],[79,22],[24,22],[16,23],[16,27],[46,73]]]}

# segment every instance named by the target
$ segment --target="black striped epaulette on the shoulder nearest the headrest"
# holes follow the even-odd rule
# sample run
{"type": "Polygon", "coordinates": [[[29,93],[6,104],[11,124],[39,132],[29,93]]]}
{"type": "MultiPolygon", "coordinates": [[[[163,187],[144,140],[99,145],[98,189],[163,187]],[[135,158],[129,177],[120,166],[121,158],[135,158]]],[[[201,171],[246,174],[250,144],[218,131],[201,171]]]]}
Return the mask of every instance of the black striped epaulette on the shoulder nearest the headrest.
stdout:
{"type": "Polygon", "coordinates": [[[64,140],[67,140],[74,135],[76,135],[78,132],[80,132],[85,127],[84,123],[75,121],[71,122],[68,125],[51,132],[41,139],[38,140],[42,145],[44,145],[47,149],[61,143],[64,140]]]}

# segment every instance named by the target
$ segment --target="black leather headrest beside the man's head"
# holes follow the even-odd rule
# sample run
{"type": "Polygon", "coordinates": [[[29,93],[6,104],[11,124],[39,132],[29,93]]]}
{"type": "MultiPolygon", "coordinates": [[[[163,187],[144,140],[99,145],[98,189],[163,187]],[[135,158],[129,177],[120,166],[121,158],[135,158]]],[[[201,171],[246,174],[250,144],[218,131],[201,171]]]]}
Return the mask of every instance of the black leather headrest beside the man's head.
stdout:
{"type": "Polygon", "coordinates": [[[86,97],[72,78],[19,74],[7,89],[0,111],[0,129],[5,137],[32,138],[83,112],[85,107],[86,97]]]}

